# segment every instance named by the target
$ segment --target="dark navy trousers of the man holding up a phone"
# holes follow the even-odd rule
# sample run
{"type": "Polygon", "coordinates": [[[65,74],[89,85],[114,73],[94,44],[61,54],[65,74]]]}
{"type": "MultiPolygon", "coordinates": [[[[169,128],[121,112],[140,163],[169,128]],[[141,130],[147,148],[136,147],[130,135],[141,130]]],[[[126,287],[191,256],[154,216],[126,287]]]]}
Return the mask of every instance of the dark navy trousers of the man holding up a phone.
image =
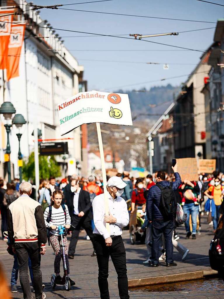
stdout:
{"type": "Polygon", "coordinates": [[[172,236],[174,231],[174,220],[163,221],[156,220],[152,221],[152,260],[154,264],[159,263],[159,244],[162,238],[162,234],[165,237],[165,249],[166,249],[166,263],[173,263],[173,243],[172,236]]]}

